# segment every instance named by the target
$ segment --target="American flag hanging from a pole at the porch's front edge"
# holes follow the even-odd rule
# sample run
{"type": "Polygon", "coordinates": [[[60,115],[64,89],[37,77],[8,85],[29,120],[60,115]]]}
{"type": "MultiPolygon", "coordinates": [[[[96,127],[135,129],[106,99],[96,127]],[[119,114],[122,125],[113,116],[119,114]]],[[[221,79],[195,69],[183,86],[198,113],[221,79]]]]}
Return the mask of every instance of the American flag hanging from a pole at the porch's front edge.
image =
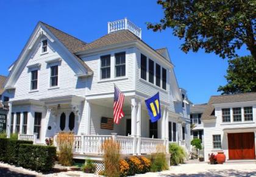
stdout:
{"type": "Polygon", "coordinates": [[[114,122],[116,124],[118,124],[120,119],[122,117],[124,117],[123,103],[124,103],[124,94],[121,91],[119,91],[119,89],[115,86],[115,93],[114,93],[114,122]]]}

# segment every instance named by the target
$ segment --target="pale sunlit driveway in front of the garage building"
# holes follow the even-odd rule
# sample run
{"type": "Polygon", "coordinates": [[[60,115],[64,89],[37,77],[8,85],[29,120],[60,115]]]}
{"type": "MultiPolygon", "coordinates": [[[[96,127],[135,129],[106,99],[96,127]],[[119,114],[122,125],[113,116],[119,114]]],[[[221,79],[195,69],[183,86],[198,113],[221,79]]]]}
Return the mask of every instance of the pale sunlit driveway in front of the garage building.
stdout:
{"type": "Polygon", "coordinates": [[[171,166],[169,170],[157,174],[146,173],[137,176],[256,176],[256,164],[182,164],[179,166],[171,166]]]}

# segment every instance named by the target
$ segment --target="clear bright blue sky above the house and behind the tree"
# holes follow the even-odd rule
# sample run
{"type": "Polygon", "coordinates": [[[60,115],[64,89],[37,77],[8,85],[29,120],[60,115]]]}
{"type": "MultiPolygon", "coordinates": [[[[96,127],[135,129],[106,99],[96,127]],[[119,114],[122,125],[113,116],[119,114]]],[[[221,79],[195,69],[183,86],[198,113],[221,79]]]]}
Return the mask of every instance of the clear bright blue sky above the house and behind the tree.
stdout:
{"type": "MultiPolygon", "coordinates": [[[[204,50],[185,54],[172,30],[152,32],[146,22],[158,22],[163,10],[156,0],[127,1],[63,1],[63,0],[0,0],[0,75],[16,60],[38,21],[90,43],[107,33],[107,22],[127,17],[142,29],[142,39],[154,49],[167,47],[175,65],[179,86],[185,88],[193,103],[208,102],[225,85],[227,59],[204,50]]],[[[243,47],[238,54],[248,55],[243,47]]]]}

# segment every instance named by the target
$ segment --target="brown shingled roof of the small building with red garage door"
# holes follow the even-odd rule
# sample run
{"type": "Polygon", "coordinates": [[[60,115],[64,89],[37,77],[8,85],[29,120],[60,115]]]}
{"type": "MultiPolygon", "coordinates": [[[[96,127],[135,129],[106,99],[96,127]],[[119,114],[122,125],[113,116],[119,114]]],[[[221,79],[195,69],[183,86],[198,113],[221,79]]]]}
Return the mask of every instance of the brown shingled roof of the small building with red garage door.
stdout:
{"type": "Polygon", "coordinates": [[[249,92],[243,94],[232,94],[232,95],[218,95],[210,97],[210,100],[202,114],[202,120],[216,119],[213,111],[215,107],[213,104],[217,103],[236,103],[236,102],[249,102],[256,101],[256,92],[249,92]]]}

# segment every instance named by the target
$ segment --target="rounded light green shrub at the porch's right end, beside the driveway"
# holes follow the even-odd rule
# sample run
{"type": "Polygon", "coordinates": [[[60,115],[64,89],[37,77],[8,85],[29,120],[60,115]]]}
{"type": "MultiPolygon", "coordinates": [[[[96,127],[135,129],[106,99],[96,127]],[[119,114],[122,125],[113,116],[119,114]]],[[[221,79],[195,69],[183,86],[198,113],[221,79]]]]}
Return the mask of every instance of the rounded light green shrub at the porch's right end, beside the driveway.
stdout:
{"type": "Polygon", "coordinates": [[[169,153],[171,154],[171,165],[184,163],[186,158],[185,150],[177,144],[169,144],[169,153]]]}

